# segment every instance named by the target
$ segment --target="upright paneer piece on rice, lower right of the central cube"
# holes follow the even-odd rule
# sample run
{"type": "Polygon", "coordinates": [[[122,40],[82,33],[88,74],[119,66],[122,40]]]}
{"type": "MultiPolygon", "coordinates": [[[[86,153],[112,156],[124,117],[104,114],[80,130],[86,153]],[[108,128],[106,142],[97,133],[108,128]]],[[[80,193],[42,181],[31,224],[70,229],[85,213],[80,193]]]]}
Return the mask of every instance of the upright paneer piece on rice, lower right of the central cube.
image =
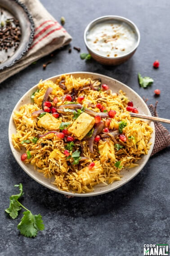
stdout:
{"type": "Polygon", "coordinates": [[[98,142],[98,150],[100,153],[100,161],[101,163],[105,161],[115,162],[115,147],[112,140],[107,140],[103,143],[103,141],[98,142]]]}

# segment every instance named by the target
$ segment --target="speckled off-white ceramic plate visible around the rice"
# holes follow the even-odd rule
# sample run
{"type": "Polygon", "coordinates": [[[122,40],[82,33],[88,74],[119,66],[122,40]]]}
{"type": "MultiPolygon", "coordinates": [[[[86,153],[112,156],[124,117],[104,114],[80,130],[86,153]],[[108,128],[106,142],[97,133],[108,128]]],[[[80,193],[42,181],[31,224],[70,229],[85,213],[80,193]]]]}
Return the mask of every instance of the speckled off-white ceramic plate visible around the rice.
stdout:
{"type": "MultiPolygon", "coordinates": [[[[127,85],[122,84],[121,82],[102,75],[102,74],[96,74],[96,73],[90,73],[90,72],[74,72],[74,73],[68,73],[68,74],[73,74],[74,77],[81,77],[83,78],[91,78],[91,79],[97,79],[100,78],[102,79],[102,84],[108,84],[108,86],[112,89],[112,92],[118,92],[120,89],[123,90],[127,97],[132,100],[134,102],[134,106],[139,110],[139,113],[141,114],[145,114],[148,116],[151,116],[151,113],[146,105],[146,103],[143,101],[142,98],[140,98],[140,96],[134,92],[134,90],[132,90],[131,88],[129,88],[127,85]]],[[[60,74],[61,75],[61,74],[60,74]]],[[[52,81],[56,81],[57,78],[60,77],[60,75],[56,75],[54,77],[49,78],[52,81]]],[[[49,80],[47,79],[47,80],[49,80]]],[[[15,110],[19,110],[19,107],[23,104],[28,104],[31,103],[31,94],[33,92],[35,92],[37,89],[37,85],[35,85],[34,87],[32,87],[29,91],[27,91],[27,93],[25,93],[23,95],[23,97],[18,101],[17,105],[14,107],[13,112],[15,110]]],[[[139,161],[138,164],[139,166],[131,168],[131,169],[124,169],[121,171],[121,174],[123,175],[123,177],[121,178],[121,181],[116,181],[113,182],[112,184],[108,185],[108,186],[103,186],[103,185],[97,185],[94,187],[94,191],[93,192],[89,192],[89,193],[85,193],[85,194],[78,194],[78,193],[72,193],[72,192],[65,192],[65,191],[60,191],[58,190],[57,186],[54,186],[53,184],[51,184],[51,182],[53,181],[53,179],[47,179],[44,177],[44,175],[40,172],[37,172],[36,170],[34,170],[34,167],[30,164],[24,164],[21,161],[21,154],[24,152],[18,152],[16,149],[14,149],[13,144],[12,144],[12,140],[11,140],[11,135],[13,133],[16,133],[16,128],[13,122],[13,112],[11,114],[10,117],[10,121],[9,121],[9,144],[13,153],[13,156],[15,157],[15,159],[17,160],[18,164],[21,166],[21,168],[31,177],[33,178],[36,182],[39,182],[40,184],[42,184],[43,186],[48,187],[49,189],[52,189],[56,192],[65,194],[65,195],[74,195],[74,196],[94,196],[94,195],[101,195],[110,191],[115,190],[116,188],[119,188],[121,186],[123,186],[125,183],[129,182],[131,179],[133,179],[145,166],[145,164],[148,162],[148,159],[152,153],[152,149],[154,146],[154,141],[155,141],[155,127],[154,127],[154,123],[150,122],[150,126],[152,126],[153,128],[153,133],[152,133],[152,138],[151,138],[151,148],[148,152],[148,155],[144,155],[139,161]]]]}

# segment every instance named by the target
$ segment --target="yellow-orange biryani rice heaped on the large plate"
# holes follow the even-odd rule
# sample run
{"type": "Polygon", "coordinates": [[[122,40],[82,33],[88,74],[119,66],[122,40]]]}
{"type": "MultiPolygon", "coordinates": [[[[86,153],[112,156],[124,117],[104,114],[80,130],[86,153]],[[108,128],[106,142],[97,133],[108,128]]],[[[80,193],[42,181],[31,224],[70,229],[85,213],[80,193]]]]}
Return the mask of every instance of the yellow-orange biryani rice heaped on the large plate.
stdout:
{"type": "MultiPolygon", "coordinates": [[[[119,181],[122,177],[120,171],[125,167],[133,168],[137,166],[136,161],[142,155],[148,154],[150,149],[151,143],[149,143],[149,140],[152,135],[152,127],[143,120],[131,117],[130,112],[126,111],[129,99],[125,96],[125,93],[122,91],[119,94],[110,93],[109,91],[97,91],[91,88],[80,90],[88,87],[90,80],[90,78],[74,78],[72,75],[65,74],[57,79],[55,83],[50,80],[40,82],[34,95],[34,102],[22,105],[19,111],[15,111],[13,115],[17,130],[16,134],[12,135],[14,148],[21,150],[24,147],[26,152],[30,151],[31,158],[26,159],[25,163],[32,164],[38,172],[43,172],[46,178],[54,177],[53,184],[59,190],[86,193],[94,191],[94,186],[99,183],[107,185],[114,181],[119,181]],[[76,140],[73,150],[78,150],[81,147],[83,149],[81,157],[85,159],[78,164],[71,163],[68,165],[69,160],[66,159],[67,157],[64,154],[67,142],[59,139],[55,133],[45,135],[49,130],[38,126],[39,117],[32,116],[33,112],[42,109],[42,101],[49,87],[53,88],[52,93],[49,95],[50,101],[53,103],[54,97],[58,98],[57,106],[53,103],[53,107],[63,106],[63,98],[66,92],[60,88],[59,83],[61,81],[64,81],[67,87],[67,93],[72,93],[74,88],[77,92],[76,98],[78,96],[85,97],[82,102],[83,107],[99,113],[100,110],[96,107],[96,104],[101,103],[103,107],[107,108],[107,111],[111,109],[116,111],[116,115],[112,118],[108,127],[109,130],[118,130],[121,121],[126,123],[123,128],[123,134],[127,139],[126,142],[117,137],[116,140],[122,148],[119,150],[115,148],[111,156],[104,152],[104,161],[101,161],[103,155],[100,155],[99,152],[105,144],[107,146],[108,141],[112,141],[111,138],[106,138],[104,141],[100,140],[99,144],[94,143],[94,153],[89,151],[88,139],[76,140]],[[39,135],[45,136],[39,138],[39,135]],[[36,143],[34,138],[37,138],[36,143]],[[25,140],[29,140],[29,143],[24,142],[25,140]],[[115,160],[112,161],[112,159],[115,160]],[[121,161],[121,164],[116,167],[115,163],[118,161],[121,161]],[[91,162],[94,162],[95,165],[94,168],[89,170],[88,166],[91,162]]],[[[62,122],[64,120],[64,122],[70,122],[72,125],[75,121],[73,117],[72,114],[66,112],[58,118],[58,121],[62,122]]],[[[103,118],[103,121],[105,120],[106,118],[103,118]]],[[[115,146],[113,142],[112,144],[115,146]]]]}

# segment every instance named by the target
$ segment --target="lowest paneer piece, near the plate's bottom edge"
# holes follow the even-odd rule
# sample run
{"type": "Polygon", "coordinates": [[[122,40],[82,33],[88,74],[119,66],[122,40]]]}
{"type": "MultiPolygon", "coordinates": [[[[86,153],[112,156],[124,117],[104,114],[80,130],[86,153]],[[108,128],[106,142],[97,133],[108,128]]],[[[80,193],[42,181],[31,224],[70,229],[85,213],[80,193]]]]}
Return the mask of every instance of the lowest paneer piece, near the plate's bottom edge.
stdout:
{"type": "Polygon", "coordinates": [[[99,161],[94,161],[95,165],[89,170],[88,166],[77,172],[78,179],[82,185],[88,186],[94,182],[99,174],[103,172],[103,167],[99,161]]]}

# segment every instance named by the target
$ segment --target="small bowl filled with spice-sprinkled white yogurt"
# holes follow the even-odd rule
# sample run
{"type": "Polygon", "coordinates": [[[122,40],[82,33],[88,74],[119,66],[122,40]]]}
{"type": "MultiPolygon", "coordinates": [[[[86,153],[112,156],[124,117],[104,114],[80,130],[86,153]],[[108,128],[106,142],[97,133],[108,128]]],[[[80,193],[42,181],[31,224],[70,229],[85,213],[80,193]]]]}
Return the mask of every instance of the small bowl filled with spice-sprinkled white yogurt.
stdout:
{"type": "Polygon", "coordinates": [[[139,46],[137,26],[121,16],[103,16],[85,28],[85,45],[91,56],[101,64],[119,65],[127,61],[139,46]]]}

